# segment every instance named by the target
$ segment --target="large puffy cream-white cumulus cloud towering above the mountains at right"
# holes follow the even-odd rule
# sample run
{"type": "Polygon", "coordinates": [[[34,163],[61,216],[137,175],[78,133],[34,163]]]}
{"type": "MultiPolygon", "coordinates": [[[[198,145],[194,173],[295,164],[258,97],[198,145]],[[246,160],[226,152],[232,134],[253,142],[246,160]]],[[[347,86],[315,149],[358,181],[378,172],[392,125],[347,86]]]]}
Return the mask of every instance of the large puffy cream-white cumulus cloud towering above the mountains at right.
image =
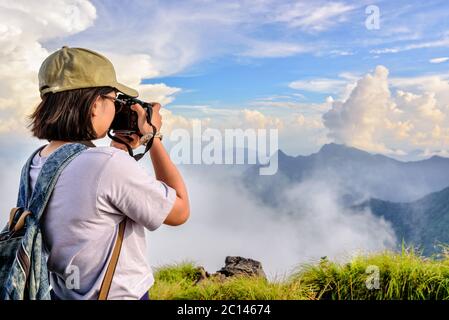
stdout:
{"type": "Polygon", "coordinates": [[[378,66],[365,75],[345,101],[335,101],[323,115],[329,137],[337,142],[381,153],[398,153],[416,147],[448,147],[448,82],[441,77],[393,79],[378,66]],[[414,88],[391,92],[395,87],[414,88]]]}

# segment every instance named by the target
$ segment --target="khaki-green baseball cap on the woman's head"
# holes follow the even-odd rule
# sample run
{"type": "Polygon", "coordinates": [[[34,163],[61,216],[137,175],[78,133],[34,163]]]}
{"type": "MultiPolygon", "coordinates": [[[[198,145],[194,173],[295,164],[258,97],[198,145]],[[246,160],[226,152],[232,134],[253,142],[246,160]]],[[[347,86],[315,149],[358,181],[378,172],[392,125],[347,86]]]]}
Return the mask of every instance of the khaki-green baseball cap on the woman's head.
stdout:
{"type": "Polygon", "coordinates": [[[47,92],[93,87],[113,87],[131,97],[139,95],[117,82],[111,61],[88,49],[64,46],[48,56],[39,69],[41,97],[47,92]]]}

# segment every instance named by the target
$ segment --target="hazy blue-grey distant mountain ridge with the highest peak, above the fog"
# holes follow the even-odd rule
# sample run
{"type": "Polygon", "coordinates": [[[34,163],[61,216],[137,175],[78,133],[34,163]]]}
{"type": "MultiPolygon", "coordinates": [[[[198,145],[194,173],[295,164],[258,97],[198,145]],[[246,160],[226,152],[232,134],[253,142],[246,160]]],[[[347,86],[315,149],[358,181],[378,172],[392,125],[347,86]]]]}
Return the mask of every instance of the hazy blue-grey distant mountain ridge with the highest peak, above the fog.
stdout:
{"type": "Polygon", "coordinates": [[[267,204],[281,203],[283,188],[308,180],[335,186],[349,204],[369,198],[409,202],[449,186],[449,159],[439,156],[404,162],[335,143],[308,156],[292,157],[281,150],[277,156],[276,174],[261,176],[260,166],[254,165],[243,177],[267,204]]]}

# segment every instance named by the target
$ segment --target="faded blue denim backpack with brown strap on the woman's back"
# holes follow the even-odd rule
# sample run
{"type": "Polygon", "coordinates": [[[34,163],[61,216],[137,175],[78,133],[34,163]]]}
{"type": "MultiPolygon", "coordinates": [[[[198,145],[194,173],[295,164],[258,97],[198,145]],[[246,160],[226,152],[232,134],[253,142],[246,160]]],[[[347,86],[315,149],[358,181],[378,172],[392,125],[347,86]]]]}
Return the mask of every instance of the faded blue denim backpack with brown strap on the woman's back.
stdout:
{"type": "MultiPolygon", "coordinates": [[[[90,141],[67,143],[54,151],[45,161],[30,195],[30,164],[39,147],[27,160],[21,171],[17,206],[11,209],[9,223],[0,233],[0,299],[50,300],[50,282],[47,269],[48,254],[44,249],[41,218],[56,182],[64,168],[88,147],[90,141]]],[[[119,226],[114,246],[100,290],[99,299],[107,298],[112,276],[120,254],[126,219],[119,226]]]]}

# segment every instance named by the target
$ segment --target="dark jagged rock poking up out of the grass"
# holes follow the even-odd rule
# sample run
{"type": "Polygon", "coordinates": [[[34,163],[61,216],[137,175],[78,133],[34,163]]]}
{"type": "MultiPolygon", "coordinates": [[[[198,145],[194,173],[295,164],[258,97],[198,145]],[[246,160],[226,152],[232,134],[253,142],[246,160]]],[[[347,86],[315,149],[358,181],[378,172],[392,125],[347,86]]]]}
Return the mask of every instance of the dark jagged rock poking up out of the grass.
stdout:
{"type": "Polygon", "coordinates": [[[218,270],[217,273],[226,277],[254,276],[267,278],[259,261],[243,257],[226,257],[225,266],[218,270]]]}

